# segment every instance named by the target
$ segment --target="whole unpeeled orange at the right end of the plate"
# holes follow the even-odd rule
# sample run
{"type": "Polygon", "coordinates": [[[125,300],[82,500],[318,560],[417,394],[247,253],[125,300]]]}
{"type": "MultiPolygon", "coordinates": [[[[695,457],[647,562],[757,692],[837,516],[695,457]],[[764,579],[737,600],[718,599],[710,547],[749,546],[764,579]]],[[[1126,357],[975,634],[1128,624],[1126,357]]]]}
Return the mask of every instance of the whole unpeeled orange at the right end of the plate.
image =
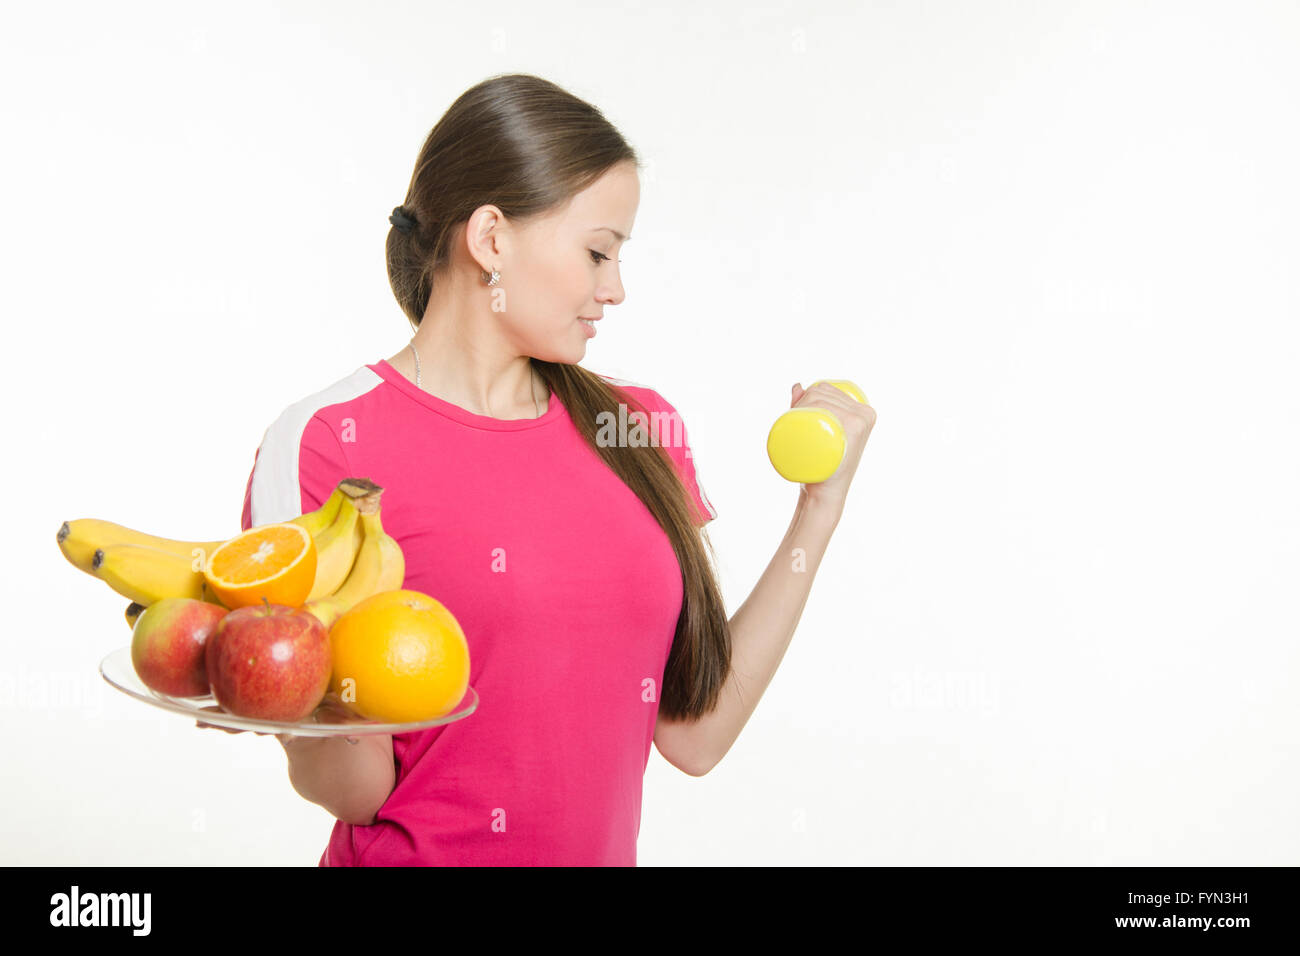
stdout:
{"type": "Polygon", "coordinates": [[[408,723],[450,713],[469,687],[469,644],[441,601],[381,591],[330,628],[330,691],[372,721],[408,723]]]}

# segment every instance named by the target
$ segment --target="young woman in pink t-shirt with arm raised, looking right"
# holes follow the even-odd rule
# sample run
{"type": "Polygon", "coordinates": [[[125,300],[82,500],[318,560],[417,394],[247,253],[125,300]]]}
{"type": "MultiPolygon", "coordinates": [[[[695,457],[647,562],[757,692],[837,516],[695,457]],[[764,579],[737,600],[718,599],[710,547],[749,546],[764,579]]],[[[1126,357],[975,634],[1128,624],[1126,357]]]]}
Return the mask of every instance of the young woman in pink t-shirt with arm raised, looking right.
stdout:
{"type": "Polygon", "coordinates": [[[634,865],[651,741],[707,773],[793,636],[875,414],[794,386],[792,405],[840,415],[849,450],[802,486],[728,620],[702,531],[715,511],[676,410],[578,364],[624,298],[638,168],[554,83],[465,91],[390,216],[411,342],[263,437],[243,527],[313,510],[347,476],[382,485],[404,587],[460,622],[480,697],[422,732],[278,736],[295,790],[337,817],[322,866],[634,865]],[[629,437],[655,419],[649,444],[629,437]]]}

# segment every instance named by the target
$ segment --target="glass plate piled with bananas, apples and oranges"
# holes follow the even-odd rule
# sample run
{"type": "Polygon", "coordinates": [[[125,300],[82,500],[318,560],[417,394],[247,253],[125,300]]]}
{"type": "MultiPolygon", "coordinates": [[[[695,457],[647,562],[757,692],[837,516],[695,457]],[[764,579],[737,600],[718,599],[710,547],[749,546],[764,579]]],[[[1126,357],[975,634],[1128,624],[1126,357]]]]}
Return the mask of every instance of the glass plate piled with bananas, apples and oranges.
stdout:
{"type": "Polygon", "coordinates": [[[442,602],[403,588],[382,492],[346,477],[315,511],[214,541],[64,522],[69,563],[130,601],[131,643],[100,674],[225,730],[351,737],[468,717],[465,635],[442,602]]]}

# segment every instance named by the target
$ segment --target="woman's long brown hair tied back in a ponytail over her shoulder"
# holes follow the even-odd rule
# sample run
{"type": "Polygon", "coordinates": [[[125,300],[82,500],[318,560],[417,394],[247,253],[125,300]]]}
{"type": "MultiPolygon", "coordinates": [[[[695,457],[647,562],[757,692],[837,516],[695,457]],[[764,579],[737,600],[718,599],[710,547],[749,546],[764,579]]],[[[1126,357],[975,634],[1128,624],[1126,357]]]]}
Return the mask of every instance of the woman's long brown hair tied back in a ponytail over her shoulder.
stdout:
{"type": "MultiPolygon", "coordinates": [[[[545,216],[619,163],[642,168],[636,152],[599,109],[530,74],[498,74],[463,92],[430,130],[415,164],[403,208],[410,232],[389,230],[389,282],[413,328],[434,281],[448,265],[458,230],[485,203],[520,224],[545,216]]],[[[707,529],[668,453],[658,444],[608,446],[597,441],[599,415],[619,419],[619,403],[646,410],[630,393],[581,365],[532,359],[578,432],[650,510],[681,566],[682,605],[664,669],[659,713],[698,719],[718,702],[731,671],[731,627],[714,571],[707,529]],[[707,554],[706,554],[707,545],[707,554]]]]}

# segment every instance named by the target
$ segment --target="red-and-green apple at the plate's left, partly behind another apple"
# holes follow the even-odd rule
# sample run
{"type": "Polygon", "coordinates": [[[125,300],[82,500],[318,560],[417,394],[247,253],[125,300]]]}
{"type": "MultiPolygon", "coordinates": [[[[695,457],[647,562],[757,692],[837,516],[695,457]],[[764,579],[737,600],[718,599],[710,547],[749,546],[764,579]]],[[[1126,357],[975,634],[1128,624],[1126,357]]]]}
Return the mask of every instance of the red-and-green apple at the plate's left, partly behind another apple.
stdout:
{"type": "Polygon", "coordinates": [[[170,697],[208,693],[207,641],[225,607],[188,597],[164,597],[135,619],[131,663],[144,685],[170,697]]]}

